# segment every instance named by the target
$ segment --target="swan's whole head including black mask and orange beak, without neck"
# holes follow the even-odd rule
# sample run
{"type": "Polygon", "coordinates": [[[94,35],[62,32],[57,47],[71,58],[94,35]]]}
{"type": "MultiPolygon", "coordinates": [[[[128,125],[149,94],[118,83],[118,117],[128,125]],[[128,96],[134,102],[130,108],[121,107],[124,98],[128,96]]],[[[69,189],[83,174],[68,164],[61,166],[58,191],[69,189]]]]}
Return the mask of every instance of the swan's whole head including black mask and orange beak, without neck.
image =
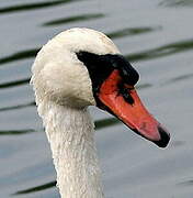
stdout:
{"type": "Polygon", "coordinates": [[[90,29],[61,32],[42,47],[32,73],[37,105],[98,106],[145,139],[167,146],[169,133],[135,91],[138,73],[103,33],[90,29]]]}

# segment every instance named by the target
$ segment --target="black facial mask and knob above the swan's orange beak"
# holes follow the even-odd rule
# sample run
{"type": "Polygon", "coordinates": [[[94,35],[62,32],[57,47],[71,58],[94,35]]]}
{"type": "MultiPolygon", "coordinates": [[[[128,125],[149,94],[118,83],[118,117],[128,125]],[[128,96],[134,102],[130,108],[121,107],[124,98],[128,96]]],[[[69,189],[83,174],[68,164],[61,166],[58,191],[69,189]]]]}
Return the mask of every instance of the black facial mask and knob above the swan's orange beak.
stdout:
{"type": "Polygon", "coordinates": [[[98,55],[89,52],[78,52],[77,57],[88,68],[93,89],[101,85],[114,69],[118,69],[123,82],[134,86],[138,79],[138,73],[129,62],[120,54],[98,55]]]}

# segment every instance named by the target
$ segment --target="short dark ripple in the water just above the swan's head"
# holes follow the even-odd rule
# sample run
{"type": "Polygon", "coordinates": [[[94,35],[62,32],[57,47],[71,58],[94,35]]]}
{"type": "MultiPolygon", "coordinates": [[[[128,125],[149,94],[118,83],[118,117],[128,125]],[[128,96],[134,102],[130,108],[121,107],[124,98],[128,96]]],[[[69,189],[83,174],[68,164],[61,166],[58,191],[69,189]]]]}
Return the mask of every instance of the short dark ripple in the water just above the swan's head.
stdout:
{"type": "Polygon", "coordinates": [[[59,25],[59,24],[65,24],[65,23],[75,23],[79,21],[89,21],[92,19],[100,19],[103,18],[104,14],[102,13],[93,13],[93,14],[81,14],[81,15],[75,15],[70,18],[64,18],[64,19],[58,19],[58,20],[53,20],[49,22],[44,23],[44,26],[50,26],[50,25],[59,25]]]}

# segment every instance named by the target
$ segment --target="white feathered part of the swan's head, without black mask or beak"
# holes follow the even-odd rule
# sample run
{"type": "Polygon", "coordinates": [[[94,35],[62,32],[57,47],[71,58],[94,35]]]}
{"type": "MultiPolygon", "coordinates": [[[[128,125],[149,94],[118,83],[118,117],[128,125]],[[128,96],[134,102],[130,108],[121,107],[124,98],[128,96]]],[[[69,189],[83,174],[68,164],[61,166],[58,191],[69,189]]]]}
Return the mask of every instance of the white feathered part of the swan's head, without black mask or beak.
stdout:
{"type": "Polygon", "coordinates": [[[76,108],[95,106],[92,81],[78,53],[118,54],[113,42],[90,29],[61,32],[42,47],[32,67],[37,103],[53,100],[76,108]]]}

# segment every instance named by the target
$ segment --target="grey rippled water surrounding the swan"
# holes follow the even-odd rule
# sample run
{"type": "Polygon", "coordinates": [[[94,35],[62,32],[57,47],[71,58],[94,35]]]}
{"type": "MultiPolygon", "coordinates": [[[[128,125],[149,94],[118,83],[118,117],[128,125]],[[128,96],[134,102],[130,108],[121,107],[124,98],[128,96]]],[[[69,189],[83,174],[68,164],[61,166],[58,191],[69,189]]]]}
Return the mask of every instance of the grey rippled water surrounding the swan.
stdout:
{"type": "Polygon", "coordinates": [[[59,197],[30,69],[48,38],[87,26],[130,59],[141,99],[172,135],[158,148],[92,108],[106,197],[192,198],[192,0],[1,0],[0,197],[59,197]]]}

